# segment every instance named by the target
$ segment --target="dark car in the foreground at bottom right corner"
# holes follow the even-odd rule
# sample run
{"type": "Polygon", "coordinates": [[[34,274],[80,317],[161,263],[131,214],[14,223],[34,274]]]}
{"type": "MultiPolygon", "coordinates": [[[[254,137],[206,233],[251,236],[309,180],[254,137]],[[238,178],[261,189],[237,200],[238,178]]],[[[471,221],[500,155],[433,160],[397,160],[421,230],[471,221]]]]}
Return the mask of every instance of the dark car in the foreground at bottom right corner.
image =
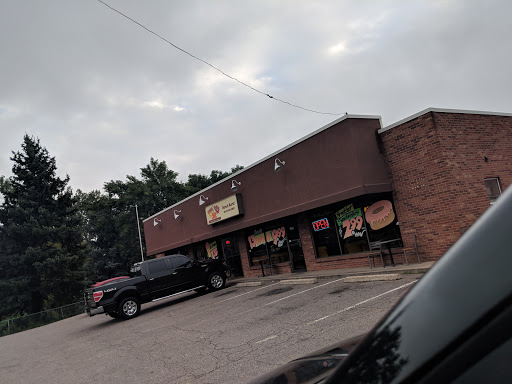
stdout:
{"type": "Polygon", "coordinates": [[[509,383],[511,358],[508,188],[366,336],[253,383],[509,383]]]}

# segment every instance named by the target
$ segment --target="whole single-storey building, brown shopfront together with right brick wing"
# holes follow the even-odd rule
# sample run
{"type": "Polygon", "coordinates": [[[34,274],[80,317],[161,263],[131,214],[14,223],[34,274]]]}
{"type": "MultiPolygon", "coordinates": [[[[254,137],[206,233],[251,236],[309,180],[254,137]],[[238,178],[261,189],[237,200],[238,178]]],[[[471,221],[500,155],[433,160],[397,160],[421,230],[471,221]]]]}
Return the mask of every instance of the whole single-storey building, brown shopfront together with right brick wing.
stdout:
{"type": "Polygon", "coordinates": [[[259,276],[368,266],[381,243],[403,262],[416,237],[437,260],[511,182],[512,114],[346,115],[144,220],[147,254],[259,276]]]}

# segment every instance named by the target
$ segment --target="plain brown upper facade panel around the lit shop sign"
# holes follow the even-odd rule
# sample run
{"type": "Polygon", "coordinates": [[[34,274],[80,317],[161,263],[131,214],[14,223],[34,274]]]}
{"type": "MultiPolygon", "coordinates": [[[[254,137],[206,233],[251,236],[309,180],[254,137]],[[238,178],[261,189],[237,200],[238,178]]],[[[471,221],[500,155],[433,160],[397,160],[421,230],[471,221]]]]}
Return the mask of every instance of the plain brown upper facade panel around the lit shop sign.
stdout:
{"type": "Polygon", "coordinates": [[[148,255],[354,196],[390,191],[389,172],[377,146],[379,128],[377,118],[341,119],[201,192],[211,205],[233,194],[232,180],[239,182],[237,193],[242,197],[244,214],[238,217],[207,225],[204,206],[195,196],[158,214],[156,218],[161,221],[156,225],[154,218],[145,220],[148,255]],[[280,172],[274,172],[277,157],[286,163],[280,172]]]}

